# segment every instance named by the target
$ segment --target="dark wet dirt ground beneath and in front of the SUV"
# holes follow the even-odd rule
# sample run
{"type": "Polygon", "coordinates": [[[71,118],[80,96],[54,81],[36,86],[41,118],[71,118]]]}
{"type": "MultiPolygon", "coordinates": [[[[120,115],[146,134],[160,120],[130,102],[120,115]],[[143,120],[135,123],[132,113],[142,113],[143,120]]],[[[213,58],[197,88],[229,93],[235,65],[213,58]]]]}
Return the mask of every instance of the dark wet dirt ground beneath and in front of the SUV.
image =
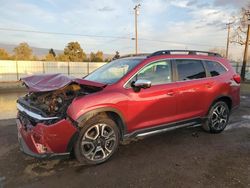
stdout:
{"type": "MultiPolygon", "coordinates": [[[[248,86],[249,87],[249,86],[248,86]]],[[[185,128],[122,145],[105,164],[38,161],[19,151],[13,121],[0,121],[3,187],[250,187],[250,94],[221,134],[185,128]]]]}

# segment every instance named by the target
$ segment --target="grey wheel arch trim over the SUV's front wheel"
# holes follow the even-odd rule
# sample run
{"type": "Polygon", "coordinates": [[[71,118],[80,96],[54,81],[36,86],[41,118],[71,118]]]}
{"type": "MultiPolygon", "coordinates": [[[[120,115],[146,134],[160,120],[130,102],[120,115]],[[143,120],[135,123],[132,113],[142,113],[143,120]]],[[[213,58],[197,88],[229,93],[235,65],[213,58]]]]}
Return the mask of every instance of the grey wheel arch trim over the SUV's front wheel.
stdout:
{"type": "Polygon", "coordinates": [[[106,117],[111,118],[118,125],[121,139],[123,139],[123,136],[127,132],[127,126],[126,126],[125,119],[124,119],[122,113],[115,108],[102,107],[102,108],[97,108],[97,109],[88,111],[88,112],[82,114],[76,120],[76,122],[77,122],[79,127],[82,127],[88,120],[90,120],[91,118],[93,118],[96,115],[106,116],[106,117]]]}

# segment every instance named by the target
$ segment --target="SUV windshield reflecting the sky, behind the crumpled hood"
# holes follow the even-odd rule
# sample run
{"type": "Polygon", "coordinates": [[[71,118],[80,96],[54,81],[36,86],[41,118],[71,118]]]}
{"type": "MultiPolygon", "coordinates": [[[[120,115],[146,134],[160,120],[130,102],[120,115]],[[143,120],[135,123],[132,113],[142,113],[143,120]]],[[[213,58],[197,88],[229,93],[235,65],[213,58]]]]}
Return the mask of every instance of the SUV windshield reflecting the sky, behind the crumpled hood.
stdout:
{"type": "Polygon", "coordinates": [[[117,59],[86,76],[85,80],[113,84],[131,71],[142,59],[117,59]]]}

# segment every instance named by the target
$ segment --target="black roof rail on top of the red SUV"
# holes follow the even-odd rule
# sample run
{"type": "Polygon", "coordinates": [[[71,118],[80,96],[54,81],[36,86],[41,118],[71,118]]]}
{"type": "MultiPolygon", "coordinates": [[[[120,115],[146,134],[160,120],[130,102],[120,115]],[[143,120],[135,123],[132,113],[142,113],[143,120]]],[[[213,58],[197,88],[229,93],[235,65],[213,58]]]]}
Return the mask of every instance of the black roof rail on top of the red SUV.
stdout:
{"type": "Polygon", "coordinates": [[[197,50],[160,50],[150,54],[148,57],[153,57],[157,55],[172,55],[172,54],[185,54],[186,55],[208,55],[208,56],[216,56],[222,57],[220,54],[215,52],[207,52],[207,51],[197,51],[197,50]]]}

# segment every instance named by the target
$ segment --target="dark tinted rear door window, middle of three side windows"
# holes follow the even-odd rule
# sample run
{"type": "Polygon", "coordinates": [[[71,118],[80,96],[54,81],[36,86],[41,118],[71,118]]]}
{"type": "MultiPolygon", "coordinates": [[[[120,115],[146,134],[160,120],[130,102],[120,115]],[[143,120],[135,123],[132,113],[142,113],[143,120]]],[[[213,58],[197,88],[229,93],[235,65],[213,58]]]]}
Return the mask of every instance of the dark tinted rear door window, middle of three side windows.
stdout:
{"type": "Polygon", "coordinates": [[[203,64],[199,60],[176,59],[175,62],[179,81],[206,77],[203,64]]]}

